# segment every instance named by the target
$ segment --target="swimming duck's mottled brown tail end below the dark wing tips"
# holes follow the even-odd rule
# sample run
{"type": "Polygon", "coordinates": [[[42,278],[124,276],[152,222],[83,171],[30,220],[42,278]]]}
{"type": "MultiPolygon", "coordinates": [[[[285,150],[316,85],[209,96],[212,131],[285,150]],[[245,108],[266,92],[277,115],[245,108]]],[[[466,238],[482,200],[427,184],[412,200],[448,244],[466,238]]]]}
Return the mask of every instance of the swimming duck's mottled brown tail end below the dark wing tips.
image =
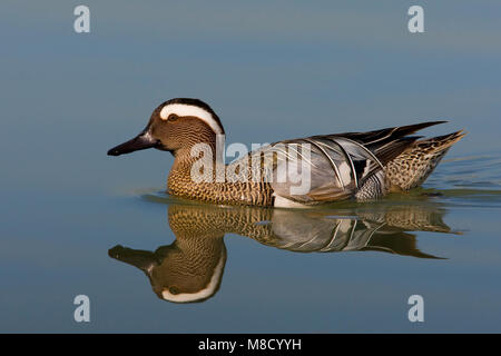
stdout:
{"type": "Polygon", "coordinates": [[[385,167],[392,190],[420,186],[448,152],[466,134],[462,130],[414,142],[385,167]]]}

